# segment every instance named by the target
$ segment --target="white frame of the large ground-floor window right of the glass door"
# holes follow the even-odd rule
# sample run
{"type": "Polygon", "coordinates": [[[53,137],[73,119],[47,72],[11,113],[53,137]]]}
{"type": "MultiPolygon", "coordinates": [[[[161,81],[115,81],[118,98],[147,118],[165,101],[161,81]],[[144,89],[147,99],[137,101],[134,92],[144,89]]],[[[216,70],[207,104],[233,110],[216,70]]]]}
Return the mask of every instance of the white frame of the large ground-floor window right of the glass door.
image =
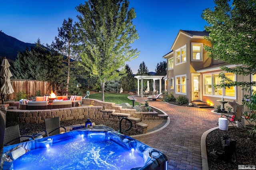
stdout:
{"type": "MultiPolygon", "coordinates": [[[[203,96],[209,96],[209,97],[215,97],[215,98],[220,98],[220,97],[224,97],[224,98],[227,98],[227,99],[234,99],[236,100],[236,96],[237,96],[237,87],[234,86],[234,91],[235,91],[235,95],[234,96],[226,96],[226,89],[225,88],[222,88],[222,95],[216,95],[215,94],[215,88],[214,88],[214,75],[216,74],[219,74],[220,72],[212,72],[212,73],[206,73],[206,74],[203,74],[203,96]],[[206,76],[211,76],[212,78],[212,94],[206,94],[206,90],[205,90],[205,77],[206,76]]],[[[232,74],[232,73],[229,73],[229,72],[225,72],[225,74],[232,74]]],[[[235,78],[235,81],[237,79],[237,75],[236,74],[233,74],[234,75],[234,78],[235,78]]]]}

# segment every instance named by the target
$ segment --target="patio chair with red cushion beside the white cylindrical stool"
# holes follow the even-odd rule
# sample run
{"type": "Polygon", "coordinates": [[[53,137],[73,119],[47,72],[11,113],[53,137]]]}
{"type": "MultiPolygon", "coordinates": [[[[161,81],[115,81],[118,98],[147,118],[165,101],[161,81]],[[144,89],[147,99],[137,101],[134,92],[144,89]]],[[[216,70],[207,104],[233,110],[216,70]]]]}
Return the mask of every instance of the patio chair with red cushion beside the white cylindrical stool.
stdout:
{"type": "MultiPolygon", "coordinates": [[[[244,125],[242,124],[243,108],[244,108],[243,105],[237,105],[236,106],[236,112],[234,114],[233,113],[222,114],[221,117],[224,116],[225,118],[227,118],[228,119],[228,124],[231,123],[234,126],[233,123],[240,123],[242,125],[242,127],[244,127],[244,125]]],[[[236,126],[234,126],[234,128],[236,129],[236,126]]],[[[238,129],[236,129],[236,130],[238,131],[238,129]]]]}

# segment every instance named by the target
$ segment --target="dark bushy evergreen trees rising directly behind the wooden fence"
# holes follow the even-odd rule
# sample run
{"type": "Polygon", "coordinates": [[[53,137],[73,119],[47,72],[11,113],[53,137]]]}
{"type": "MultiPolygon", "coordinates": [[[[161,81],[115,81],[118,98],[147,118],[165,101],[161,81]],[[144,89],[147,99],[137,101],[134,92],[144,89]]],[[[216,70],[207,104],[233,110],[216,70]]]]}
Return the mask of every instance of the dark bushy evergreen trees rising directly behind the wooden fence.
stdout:
{"type": "Polygon", "coordinates": [[[62,77],[60,63],[60,54],[46,49],[38,39],[34,47],[18,53],[13,74],[20,79],[59,82],[62,77]]]}

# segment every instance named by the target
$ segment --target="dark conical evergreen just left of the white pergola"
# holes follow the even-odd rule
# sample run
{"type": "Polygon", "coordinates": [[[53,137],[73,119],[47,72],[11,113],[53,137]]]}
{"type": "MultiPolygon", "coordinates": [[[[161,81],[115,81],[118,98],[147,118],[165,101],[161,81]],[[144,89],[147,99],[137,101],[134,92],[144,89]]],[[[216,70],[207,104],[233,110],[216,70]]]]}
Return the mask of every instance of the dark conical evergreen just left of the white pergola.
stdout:
{"type": "Polygon", "coordinates": [[[136,88],[136,82],[132,76],[132,70],[128,64],[125,65],[126,76],[121,79],[121,86],[125,92],[136,88]]]}

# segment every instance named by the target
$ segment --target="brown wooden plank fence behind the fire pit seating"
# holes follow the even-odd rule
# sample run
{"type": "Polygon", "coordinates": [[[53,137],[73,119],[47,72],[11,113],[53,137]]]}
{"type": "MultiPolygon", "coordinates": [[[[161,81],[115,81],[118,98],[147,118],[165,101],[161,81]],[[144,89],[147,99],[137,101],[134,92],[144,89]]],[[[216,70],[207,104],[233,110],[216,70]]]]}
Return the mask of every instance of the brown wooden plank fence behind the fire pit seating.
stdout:
{"type": "Polygon", "coordinates": [[[16,94],[21,91],[25,91],[28,97],[32,97],[36,96],[38,90],[41,91],[43,96],[49,96],[51,90],[55,93],[59,90],[56,83],[38,80],[11,79],[11,84],[14,92],[8,96],[9,100],[14,100],[16,94]]]}

